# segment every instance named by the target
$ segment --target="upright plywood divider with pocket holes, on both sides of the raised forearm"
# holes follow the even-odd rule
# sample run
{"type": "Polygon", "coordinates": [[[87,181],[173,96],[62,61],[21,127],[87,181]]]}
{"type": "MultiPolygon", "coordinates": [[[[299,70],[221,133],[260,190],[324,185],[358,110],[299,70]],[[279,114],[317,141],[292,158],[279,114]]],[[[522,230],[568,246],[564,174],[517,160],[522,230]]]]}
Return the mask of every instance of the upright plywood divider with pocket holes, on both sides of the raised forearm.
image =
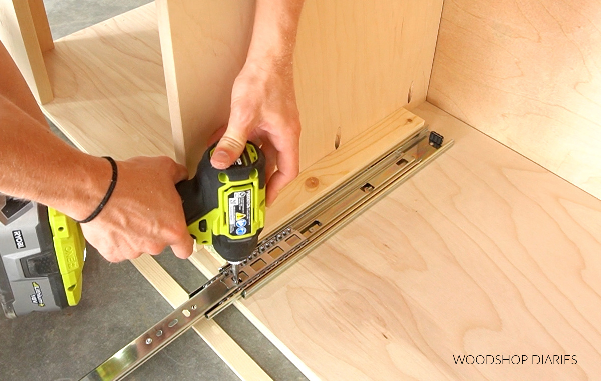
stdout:
{"type": "MultiPolygon", "coordinates": [[[[204,141],[227,123],[245,62],[254,1],[160,0],[175,152],[194,170],[204,141]],[[170,40],[170,41],[169,41],[170,40]]],[[[442,0],[307,0],[294,55],[301,170],[365,127],[426,98],[442,0]],[[411,89],[411,91],[409,91],[411,89]]]]}

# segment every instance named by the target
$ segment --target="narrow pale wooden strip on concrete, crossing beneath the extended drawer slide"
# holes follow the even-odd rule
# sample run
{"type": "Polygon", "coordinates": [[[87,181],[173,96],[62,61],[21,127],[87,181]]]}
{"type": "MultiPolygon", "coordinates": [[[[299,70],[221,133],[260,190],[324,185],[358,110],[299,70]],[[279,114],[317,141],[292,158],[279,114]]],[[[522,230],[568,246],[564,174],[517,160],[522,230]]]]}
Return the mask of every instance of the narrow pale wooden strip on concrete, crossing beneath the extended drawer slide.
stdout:
{"type": "MultiPolygon", "coordinates": [[[[188,293],[150,255],[144,254],[131,262],[173,308],[188,300],[188,293]]],[[[213,320],[203,319],[192,329],[240,380],[272,380],[213,320]]]]}

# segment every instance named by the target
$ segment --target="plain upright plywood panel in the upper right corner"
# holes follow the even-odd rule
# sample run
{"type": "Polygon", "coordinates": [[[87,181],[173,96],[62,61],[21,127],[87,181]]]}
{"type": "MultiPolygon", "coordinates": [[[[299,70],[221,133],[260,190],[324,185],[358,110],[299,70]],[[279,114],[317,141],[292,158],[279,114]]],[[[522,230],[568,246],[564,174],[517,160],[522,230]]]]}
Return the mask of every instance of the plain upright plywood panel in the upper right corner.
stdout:
{"type": "Polygon", "coordinates": [[[601,198],[596,0],[445,2],[428,100],[601,198]]]}

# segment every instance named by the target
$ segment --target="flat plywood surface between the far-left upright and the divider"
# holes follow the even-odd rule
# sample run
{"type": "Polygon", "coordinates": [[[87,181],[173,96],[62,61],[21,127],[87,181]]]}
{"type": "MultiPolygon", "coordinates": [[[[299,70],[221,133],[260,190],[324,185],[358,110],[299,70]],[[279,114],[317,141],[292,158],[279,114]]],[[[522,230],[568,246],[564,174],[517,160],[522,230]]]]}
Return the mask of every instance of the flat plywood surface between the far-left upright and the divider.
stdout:
{"type": "Polygon", "coordinates": [[[174,157],[154,2],[59,38],[44,62],[43,110],[79,148],[174,157]]]}

